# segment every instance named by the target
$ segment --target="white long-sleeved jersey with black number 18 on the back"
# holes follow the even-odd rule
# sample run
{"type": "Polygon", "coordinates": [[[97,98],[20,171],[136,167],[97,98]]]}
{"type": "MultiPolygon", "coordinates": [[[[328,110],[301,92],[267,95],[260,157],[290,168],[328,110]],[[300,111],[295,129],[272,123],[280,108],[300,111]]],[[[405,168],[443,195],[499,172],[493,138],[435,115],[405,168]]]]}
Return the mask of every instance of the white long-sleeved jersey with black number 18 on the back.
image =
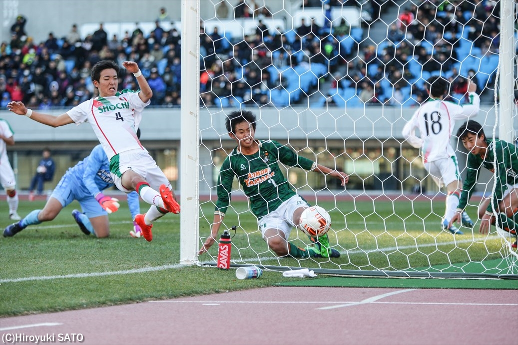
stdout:
{"type": "Polygon", "coordinates": [[[458,105],[430,98],[414,112],[402,135],[410,145],[421,148],[425,163],[455,155],[450,142],[455,121],[467,120],[480,109],[480,98],[476,93],[469,94],[469,101],[469,104],[458,105]],[[416,129],[419,129],[421,137],[416,136],[416,129]]]}

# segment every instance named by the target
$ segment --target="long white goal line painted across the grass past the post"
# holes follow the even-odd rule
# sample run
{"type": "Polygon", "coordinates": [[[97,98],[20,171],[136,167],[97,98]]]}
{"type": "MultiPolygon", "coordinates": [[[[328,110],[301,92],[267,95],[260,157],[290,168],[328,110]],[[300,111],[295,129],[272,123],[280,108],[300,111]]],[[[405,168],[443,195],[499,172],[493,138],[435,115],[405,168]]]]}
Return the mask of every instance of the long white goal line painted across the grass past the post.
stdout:
{"type": "MultiPolygon", "coordinates": [[[[488,237],[487,239],[497,239],[498,236],[488,237]]],[[[449,241],[449,242],[436,242],[436,243],[428,243],[426,245],[421,245],[419,247],[435,247],[435,246],[447,246],[447,245],[455,245],[455,243],[468,243],[473,242],[473,239],[464,239],[458,241],[449,241]]],[[[371,253],[371,252],[393,252],[394,250],[402,250],[402,249],[412,249],[415,246],[399,246],[399,247],[387,247],[387,248],[378,248],[372,250],[349,250],[349,251],[341,251],[341,254],[358,254],[358,253],[371,253]]],[[[271,257],[262,257],[260,258],[248,258],[242,259],[235,262],[258,262],[258,261],[268,261],[268,260],[278,260],[277,256],[271,257]]],[[[212,261],[200,262],[198,265],[209,264],[212,261]]],[[[118,276],[118,275],[127,275],[134,273],[146,273],[146,272],[154,272],[161,271],[165,269],[175,269],[185,267],[183,264],[174,264],[174,265],[163,265],[163,266],[155,266],[155,267],[143,267],[143,268],[135,268],[135,269],[127,269],[127,270],[119,270],[119,271],[108,271],[108,272],[91,272],[91,273],[79,273],[79,274],[70,274],[70,275],[60,275],[60,276],[33,276],[33,277],[24,277],[24,278],[9,278],[9,279],[0,279],[0,284],[3,283],[18,283],[23,281],[35,281],[35,280],[53,280],[53,279],[69,279],[69,278],[88,278],[88,277],[103,277],[103,276],[118,276]]]]}

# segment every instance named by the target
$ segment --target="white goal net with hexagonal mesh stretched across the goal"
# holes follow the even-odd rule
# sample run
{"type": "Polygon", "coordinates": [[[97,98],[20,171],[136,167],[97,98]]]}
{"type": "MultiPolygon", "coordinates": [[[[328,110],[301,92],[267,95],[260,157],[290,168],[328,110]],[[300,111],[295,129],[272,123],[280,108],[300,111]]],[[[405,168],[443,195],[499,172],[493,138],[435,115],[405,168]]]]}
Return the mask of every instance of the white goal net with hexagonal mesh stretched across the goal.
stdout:
{"type": "MultiPolygon", "coordinates": [[[[219,236],[236,226],[229,230],[233,265],[518,278],[512,231],[497,224],[489,234],[479,233],[479,204],[491,198],[494,174],[481,169],[466,208],[474,226],[458,225],[463,234],[452,235],[441,226],[446,191],[425,170],[420,150],[401,135],[428,99],[426,80],[441,76],[450,82],[447,100],[457,104],[469,102],[468,79],[476,82],[481,109],[473,120],[490,139],[503,138],[499,124],[507,121],[506,139],[514,143],[516,8],[508,2],[511,25],[500,25],[501,3],[507,2],[185,1],[182,262],[214,264],[219,236]],[[501,26],[510,33],[502,33],[501,26]],[[508,50],[511,64],[505,67],[499,56],[508,50]],[[513,82],[510,89],[503,80],[513,82]],[[187,109],[191,102],[196,107],[187,109]],[[214,245],[197,254],[211,236],[220,169],[237,145],[225,128],[234,110],[255,114],[256,139],[279,142],[300,157],[349,175],[344,188],[329,174],[280,165],[297,194],[329,212],[329,244],[340,257],[276,255],[237,178],[214,245]]],[[[451,141],[464,177],[468,154],[455,137],[461,124],[452,129],[451,141]]],[[[297,228],[289,241],[303,249],[313,245],[297,228]]]]}

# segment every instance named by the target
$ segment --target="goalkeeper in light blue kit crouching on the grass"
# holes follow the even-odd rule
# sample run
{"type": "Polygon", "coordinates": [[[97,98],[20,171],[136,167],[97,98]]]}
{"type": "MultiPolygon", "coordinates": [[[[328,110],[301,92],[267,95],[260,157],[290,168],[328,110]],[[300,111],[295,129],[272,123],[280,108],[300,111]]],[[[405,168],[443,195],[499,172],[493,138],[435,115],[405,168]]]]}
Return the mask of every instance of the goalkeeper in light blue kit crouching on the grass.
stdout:
{"type": "MultiPolygon", "coordinates": [[[[110,234],[108,213],[119,209],[119,200],[104,195],[102,191],[113,185],[108,157],[106,157],[103,147],[97,145],[90,155],[65,172],[42,210],[33,210],[21,221],[7,226],[4,230],[4,237],[15,236],[28,225],[53,220],[64,207],[74,200],[79,202],[84,212],[78,210],[72,212],[81,231],[86,235],[108,237],[110,234]]],[[[128,194],[127,202],[132,218],[135,219],[140,212],[137,192],[128,194]]],[[[140,227],[135,221],[133,224],[134,229],[130,234],[139,234],[140,227]]]]}

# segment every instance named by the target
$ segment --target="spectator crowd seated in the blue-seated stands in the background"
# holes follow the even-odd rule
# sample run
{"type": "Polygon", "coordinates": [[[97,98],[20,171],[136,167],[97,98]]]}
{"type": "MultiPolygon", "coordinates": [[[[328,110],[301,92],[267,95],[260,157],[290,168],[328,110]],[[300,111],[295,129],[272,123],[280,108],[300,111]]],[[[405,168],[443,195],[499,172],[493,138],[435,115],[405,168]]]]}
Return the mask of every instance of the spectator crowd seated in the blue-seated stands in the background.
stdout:
{"type": "MultiPolygon", "coordinates": [[[[380,0],[371,3],[376,18],[392,4],[380,0]]],[[[271,90],[290,88],[290,80],[281,72],[290,67],[313,71],[311,65],[322,65],[316,76],[319,82],[330,82],[338,92],[354,88],[366,104],[401,104],[405,94],[421,103],[427,95],[417,81],[426,79],[423,75],[427,74],[448,78],[452,94],[466,93],[468,76],[461,75],[458,68],[461,37],[472,42],[480,56],[498,54],[499,3],[490,0],[412,3],[390,25],[385,41],[365,39],[359,44],[365,37],[355,38],[358,49],[342,45],[352,34],[346,20],[335,25],[337,21],[332,24],[328,18],[330,7],[356,2],[305,0],[303,8],[326,8],[320,21],[324,24],[319,26],[315,18],[303,19],[295,30],[286,32],[265,24],[265,19],[272,17],[266,6],[236,0],[229,11],[229,4],[222,2],[216,8],[218,18],[254,18],[257,27],[252,34],[228,38],[218,27],[206,32],[203,23],[200,25],[202,106],[219,105],[221,98],[229,96],[233,96],[229,106],[236,105],[232,102],[271,105],[271,90]]],[[[34,42],[25,31],[27,19],[18,16],[11,26],[11,40],[0,47],[0,105],[5,108],[10,100],[17,100],[33,109],[76,106],[96,96],[90,68],[108,59],[139,64],[153,89],[152,106],[179,107],[181,36],[176,28],[164,30],[163,20],[170,20],[164,8],[154,29],[147,33],[135,23],[133,32],[124,37],[108,37],[100,23],[95,32],[81,37],[73,25],[65,37],[50,32],[45,41],[34,42]]],[[[133,76],[124,70],[121,73],[120,88],[137,89],[133,76]]],[[[470,71],[470,77],[477,78],[477,70],[470,71]]],[[[301,96],[292,103],[305,102],[318,88],[314,83],[307,88],[300,86],[301,96]]],[[[332,99],[327,102],[334,103],[332,99]]]]}

